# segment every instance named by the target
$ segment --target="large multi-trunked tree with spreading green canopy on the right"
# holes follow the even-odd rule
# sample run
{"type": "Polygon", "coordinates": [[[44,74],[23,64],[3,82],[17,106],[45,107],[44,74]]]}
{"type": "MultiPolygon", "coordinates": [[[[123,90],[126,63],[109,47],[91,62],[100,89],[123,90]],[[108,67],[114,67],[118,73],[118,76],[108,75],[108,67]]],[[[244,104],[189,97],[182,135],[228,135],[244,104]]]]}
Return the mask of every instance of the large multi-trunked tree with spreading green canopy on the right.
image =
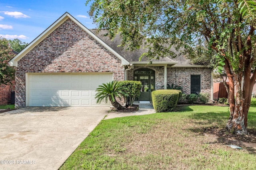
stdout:
{"type": "Polygon", "coordinates": [[[251,76],[256,61],[256,0],[94,0],[89,15],[110,38],[120,33],[126,49],[147,47],[144,55],[149,59],[172,55],[170,47],[191,58],[200,50],[210,54],[229,79],[227,129],[247,133],[256,79],[255,70],[251,76]]]}

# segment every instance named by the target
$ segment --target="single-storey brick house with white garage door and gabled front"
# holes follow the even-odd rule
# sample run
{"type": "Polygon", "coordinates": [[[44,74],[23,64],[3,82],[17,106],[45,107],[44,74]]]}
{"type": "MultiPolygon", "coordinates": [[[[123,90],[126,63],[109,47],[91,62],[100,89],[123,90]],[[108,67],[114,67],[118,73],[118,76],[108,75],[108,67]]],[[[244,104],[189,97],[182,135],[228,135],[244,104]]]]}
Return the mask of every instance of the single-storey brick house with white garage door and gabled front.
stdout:
{"type": "MultiPolygon", "coordinates": [[[[100,31],[101,32],[101,31],[100,31]]],[[[96,88],[112,80],[138,80],[138,100],[167,84],[182,86],[186,94],[212,96],[212,70],[178,56],[138,61],[143,49],[125,51],[120,38],[110,41],[89,30],[67,12],[48,27],[10,64],[17,67],[15,106],[110,106],[96,104],[96,88]]],[[[175,51],[174,51],[175,52],[175,51]]]]}

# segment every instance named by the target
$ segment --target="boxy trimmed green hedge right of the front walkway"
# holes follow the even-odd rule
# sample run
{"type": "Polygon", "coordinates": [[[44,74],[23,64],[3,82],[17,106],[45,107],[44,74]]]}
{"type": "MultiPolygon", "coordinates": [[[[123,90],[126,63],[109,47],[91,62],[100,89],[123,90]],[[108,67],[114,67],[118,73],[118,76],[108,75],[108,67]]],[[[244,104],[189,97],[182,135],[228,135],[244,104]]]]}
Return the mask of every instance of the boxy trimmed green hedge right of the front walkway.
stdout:
{"type": "Polygon", "coordinates": [[[155,90],[152,92],[153,107],[157,112],[172,111],[181,95],[180,90],[155,90]]]}

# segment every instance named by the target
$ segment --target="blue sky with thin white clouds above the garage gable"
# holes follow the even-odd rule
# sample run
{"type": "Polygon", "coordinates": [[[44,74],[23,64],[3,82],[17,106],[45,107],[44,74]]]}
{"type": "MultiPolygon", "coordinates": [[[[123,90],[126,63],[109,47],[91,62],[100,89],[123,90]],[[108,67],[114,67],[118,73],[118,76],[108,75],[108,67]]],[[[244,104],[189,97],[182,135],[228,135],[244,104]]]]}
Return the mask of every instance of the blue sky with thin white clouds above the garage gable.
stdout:
{"type": "Polygon", "coordinates": [[[95,28],[86,0],[1,0],[0,37],[30,43],[68,12],[87,28],[95,28]]]}

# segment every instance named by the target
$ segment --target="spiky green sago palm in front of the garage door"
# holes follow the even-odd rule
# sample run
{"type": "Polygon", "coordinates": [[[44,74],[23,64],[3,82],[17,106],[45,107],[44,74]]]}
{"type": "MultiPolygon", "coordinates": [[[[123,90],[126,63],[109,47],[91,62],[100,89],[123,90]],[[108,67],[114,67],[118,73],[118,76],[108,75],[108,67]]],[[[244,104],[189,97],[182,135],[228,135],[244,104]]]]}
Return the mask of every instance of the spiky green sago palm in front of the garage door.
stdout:
{"type": "Polygon", "coordinates": [[[121,99],[122,96],[127,96],[124,90],[125,88],[118,81],[112,81],[106,84],[103,83],[96,89],[97,103],[102,101],[108,102],[108,100],[110,100],[110,103],[112,106],[116,107],[116,109],[124,109],[124,107],[116,101],[116,98],[121,99]]]}

